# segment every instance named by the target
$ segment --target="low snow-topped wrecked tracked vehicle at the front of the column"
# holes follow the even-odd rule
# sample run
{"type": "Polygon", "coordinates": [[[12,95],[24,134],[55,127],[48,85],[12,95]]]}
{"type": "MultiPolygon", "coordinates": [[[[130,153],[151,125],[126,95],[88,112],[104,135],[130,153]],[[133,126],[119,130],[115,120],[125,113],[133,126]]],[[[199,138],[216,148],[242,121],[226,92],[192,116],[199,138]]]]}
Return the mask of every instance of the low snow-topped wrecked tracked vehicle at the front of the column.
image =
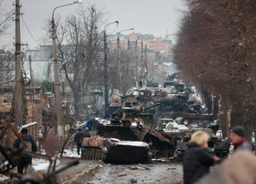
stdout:
{"type": "Polygon", "coordinates": [[[146,142],[120,141],[117,138],[83,138],[82,159],[111,163],[148,162],[152,158],[146,142]]]}

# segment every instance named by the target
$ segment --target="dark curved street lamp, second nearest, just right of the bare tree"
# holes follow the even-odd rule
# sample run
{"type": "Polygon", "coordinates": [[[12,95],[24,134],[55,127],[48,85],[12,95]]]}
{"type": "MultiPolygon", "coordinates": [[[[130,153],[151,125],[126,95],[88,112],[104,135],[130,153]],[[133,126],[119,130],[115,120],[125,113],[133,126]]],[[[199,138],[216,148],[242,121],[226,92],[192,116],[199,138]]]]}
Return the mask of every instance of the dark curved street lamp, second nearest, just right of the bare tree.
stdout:
{"type": "Polygon", "coordinates": [[[106,63],[106,27],[110,26],[110,24],[117,23],[118,26],[118,21],[116,22],[111,22],[107,24],[104,27],[104,86],[105,86],[105,111],[107,107],[109,106],[109,93],[108,93],[108,86],[107,86],[107,63],[106,63]]]}

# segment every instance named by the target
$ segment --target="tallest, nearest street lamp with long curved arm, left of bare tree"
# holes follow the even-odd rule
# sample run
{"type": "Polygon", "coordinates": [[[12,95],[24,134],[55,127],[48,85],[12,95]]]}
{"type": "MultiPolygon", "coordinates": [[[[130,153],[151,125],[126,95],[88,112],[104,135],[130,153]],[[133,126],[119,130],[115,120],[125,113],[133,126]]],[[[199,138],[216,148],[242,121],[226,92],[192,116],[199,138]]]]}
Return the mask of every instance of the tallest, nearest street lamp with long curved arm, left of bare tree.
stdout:
{"type": "MultiPolygon", "coordinates": [[[[73,2],[70,4],[57,6],[54,8],[54,11],[57,8],[63,7],[63,6],[70,6],[73,4],[79,3],[81,4],[82,1],[73,2]]],[[[64,132],[62,128],[62,101],[61,101],[61,90],[60,90],[60,82],[59,82],[59,76],[58,76],[58,57],[57,57],[57,46],[56,46],[56,33],[55,33],[55,23],[54,23],[54,11],[53,16],[51,18],[51,29],[53,31],[53,51],[54,51],[54,86],[55,86],[55,102],[56,102],[56,111],[57,111],[57,124],[58,124],[58,136],[62,136],[64,138],[64,132]]]]}

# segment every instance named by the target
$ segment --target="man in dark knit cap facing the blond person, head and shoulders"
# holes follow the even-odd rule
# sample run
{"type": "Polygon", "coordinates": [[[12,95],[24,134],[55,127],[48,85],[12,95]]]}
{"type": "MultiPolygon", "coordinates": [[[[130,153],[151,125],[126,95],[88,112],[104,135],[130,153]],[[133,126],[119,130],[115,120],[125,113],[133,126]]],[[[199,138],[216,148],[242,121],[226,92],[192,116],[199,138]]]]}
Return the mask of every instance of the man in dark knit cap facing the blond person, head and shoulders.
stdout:
{"type": "Polygon", "coordinates": [[[241,149],[252,150],[250,143],[246,141],[243,126],[234,126],[234,128],[230,130],[230,141],[234,146],[234,151],[241,149]]]}

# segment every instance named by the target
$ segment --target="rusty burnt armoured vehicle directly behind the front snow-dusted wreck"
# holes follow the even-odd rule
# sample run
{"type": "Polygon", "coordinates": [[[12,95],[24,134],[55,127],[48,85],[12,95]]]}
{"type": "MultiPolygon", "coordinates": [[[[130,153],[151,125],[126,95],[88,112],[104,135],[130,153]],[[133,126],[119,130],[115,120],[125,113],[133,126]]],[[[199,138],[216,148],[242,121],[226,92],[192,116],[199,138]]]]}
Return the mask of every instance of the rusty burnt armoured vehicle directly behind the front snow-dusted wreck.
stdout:
{"type": "Polygon", "coordinates": [[[168,134],[148,126],[139,117],[139,111],[130,113],[127,109],[126,112],[118,110],[112,114],[112,118],[110,124],[98,127],[98,135],[104,138],[149,143],[153,158],[174,156],[174,139],[168,134]]]}

